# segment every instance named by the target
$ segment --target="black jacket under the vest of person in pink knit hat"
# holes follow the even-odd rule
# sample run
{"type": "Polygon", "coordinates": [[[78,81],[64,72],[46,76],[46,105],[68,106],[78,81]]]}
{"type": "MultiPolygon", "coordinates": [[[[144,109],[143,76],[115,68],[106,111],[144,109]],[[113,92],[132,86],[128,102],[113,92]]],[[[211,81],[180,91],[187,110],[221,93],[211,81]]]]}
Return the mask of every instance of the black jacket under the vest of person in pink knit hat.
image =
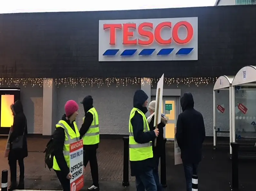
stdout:
{"type": "MultiPolygon", "coordinates": [[[[62,116],[62,120],[66,121],[67,124],[71,127],[71,129],[75,131],[74,123],[70,123],[70,120],[66,119],[66,115],[62,116]]],[[[63,154],[63,146],[65,142],[65,130],[63,128],[56,128],[53,135],[53,154],[56,158],[56,161],[63,173],[63,175],[67,176],[69,173],[69,167],[67,162],[65,161],[64,154],[63,154]]],[[[80,140],[80,137],[77,139],[80,140]]]]}

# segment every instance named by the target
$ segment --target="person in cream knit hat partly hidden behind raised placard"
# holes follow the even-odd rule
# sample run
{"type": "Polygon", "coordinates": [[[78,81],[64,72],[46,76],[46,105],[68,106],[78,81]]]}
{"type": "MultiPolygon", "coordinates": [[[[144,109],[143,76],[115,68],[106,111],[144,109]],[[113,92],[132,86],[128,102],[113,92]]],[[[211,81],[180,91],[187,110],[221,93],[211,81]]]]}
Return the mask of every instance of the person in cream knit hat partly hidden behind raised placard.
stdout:
{"type": "MultiPolygon", "coordinates": [[[[155,107],[156,107],[156,101],[152,101],[148,104],[148,109],[150,116],[147,118],[148,125],[150,131],[155,130],[155,107]]],[[[159,135],[156,138],[156,147],[153,146],[153,158],[155,162],[155,168],[153,170],[153,175],[156,181],[156,187],[157,191],[162,190],[162,185],[159,182],[159,174],[158,174],[158,166],[159,166],[159,158],[161,157],[162,153],[164,152],[164,127],[167,123],[167,119],[165,118],[164,115],[161,115],[161,122],[157,125],[157,128],[159,129],[159,135]]],[[[152,141],[152,144],[155,145],[155,139],[152,141]]]]}

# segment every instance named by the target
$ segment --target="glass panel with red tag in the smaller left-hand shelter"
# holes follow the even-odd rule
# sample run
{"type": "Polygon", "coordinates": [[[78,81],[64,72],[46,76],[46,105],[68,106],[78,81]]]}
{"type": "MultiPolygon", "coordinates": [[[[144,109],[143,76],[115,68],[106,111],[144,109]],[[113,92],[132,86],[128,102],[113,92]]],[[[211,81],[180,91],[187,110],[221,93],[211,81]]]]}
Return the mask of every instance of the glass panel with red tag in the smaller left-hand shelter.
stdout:
{"type": "Polygon", "coordinates": [[[220,90],[215,94],[216,130],[218,137],[229,137],[229,91],[220,90]]]}

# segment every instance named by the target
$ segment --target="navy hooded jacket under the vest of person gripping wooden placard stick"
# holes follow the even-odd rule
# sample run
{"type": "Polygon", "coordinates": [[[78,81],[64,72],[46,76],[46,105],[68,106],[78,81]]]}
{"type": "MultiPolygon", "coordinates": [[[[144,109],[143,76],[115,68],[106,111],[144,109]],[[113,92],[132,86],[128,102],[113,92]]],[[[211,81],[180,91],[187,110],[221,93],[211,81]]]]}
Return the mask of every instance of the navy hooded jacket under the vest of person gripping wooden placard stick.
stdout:
{"type": "MultiPolygon", "coordinates": [[[[144,102],[148,96],[143,90],[137,90],[133,97],[133,107],[139,109],[144,114],[147,113],[147,107],[143,107],[144,102]]],[[[153,141],[156,138],[154,131],[143,132],[144,123],[141,114],[135,112],[131,119],[133,127],[133,136],[137,143],[143,144],[153,141]]],[[[149,158],[143,161],[130,161],[131,176],[138,175],[142,172],[146,172],[154,168],[153,158],[149,158]]]]}

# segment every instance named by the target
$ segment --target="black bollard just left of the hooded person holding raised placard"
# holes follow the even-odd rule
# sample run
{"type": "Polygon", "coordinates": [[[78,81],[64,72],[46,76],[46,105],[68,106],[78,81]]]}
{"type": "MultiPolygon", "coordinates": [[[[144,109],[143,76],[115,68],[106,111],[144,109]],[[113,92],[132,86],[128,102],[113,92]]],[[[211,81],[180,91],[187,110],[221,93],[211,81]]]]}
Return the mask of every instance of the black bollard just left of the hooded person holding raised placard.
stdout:
{"type": "Polygon", "coordinates": [[[124,141],[124,163],[123,163],[123,186],[127,187],[129,183],[129,137],[123,137],[124,141]]]}

